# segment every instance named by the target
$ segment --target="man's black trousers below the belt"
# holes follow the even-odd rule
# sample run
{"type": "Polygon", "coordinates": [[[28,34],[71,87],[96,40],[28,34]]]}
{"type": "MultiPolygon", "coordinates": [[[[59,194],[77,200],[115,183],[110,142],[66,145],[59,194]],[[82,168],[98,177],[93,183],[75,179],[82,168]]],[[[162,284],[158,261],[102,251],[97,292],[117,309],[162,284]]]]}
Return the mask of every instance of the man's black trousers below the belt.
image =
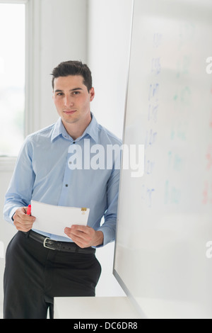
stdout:
{"type": "Polygon", "coordinates": [[[48,309],[52,319],[54,297],[95,296],[100,273],[95,253],[46,249],[17,232],[6,249],[4,319],[46,319],[48,309]]]}

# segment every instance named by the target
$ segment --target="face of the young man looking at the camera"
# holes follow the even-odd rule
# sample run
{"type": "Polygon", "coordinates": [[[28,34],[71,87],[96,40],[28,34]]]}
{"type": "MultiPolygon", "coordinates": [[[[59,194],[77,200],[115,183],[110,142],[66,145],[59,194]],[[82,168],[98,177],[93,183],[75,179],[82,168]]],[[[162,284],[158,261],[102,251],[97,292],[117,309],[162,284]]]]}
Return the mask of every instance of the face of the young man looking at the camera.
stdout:
{"type": "Polygon", "coordinates": [[[95,96],[94,89],[88,92],[81,75],[69,75],[54,79],[53,100],[64,125],[88,122],[90,101],[95,96]]]}

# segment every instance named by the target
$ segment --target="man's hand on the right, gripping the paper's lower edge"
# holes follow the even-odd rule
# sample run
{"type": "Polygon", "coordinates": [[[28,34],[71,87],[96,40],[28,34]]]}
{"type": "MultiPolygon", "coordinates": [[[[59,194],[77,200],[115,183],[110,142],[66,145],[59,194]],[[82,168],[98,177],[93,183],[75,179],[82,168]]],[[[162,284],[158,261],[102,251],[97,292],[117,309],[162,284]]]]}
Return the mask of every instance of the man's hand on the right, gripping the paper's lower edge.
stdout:
{"type": "Polygon", "coordinates": [[[103,243],[104,235],[102,231],[96,231],[92,227],[84,225],[72,225],[66,227],[65,234],[82,249],[85,247],[97,247],[103,243]]]}

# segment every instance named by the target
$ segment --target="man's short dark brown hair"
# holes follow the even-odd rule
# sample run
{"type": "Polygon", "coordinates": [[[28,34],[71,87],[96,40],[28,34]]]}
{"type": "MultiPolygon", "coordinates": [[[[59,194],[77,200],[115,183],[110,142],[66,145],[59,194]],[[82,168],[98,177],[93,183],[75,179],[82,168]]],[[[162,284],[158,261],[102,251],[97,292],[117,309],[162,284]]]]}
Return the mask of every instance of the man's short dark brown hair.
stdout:
{"type": "Polygon", "coordinates": [[[54,89],[54,79],[57,77],[68,77],[69,75],[81,75],[83,77],[83,84],[88,89],[88,92],[92,88],[92,76],[87,64],[83,64],[81,61],[66,61],[61,62],[52,71],[52,88],[54,89]]]}

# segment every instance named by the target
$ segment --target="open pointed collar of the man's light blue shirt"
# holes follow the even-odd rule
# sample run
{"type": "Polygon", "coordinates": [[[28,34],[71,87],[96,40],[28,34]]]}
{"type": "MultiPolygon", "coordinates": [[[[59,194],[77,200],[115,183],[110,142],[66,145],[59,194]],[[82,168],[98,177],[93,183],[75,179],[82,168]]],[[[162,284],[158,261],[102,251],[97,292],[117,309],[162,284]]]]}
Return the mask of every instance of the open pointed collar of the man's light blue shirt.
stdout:
{"type": "MultiPolygon", "coordinates": [[[[91,113],[92,119],[90,121],[90,124],[86,128],[85,132],[83,132],[83,135],[81,137],[78,137],[78,140],[80,140],[82,137],[84,137],[86,134],[90,135],[90,137],[93,138],[93,140],[98,143],[98,122],[95,119],[93,113],[91,113]]],[[[61,118],[57,120],[57,123],[55,123],[53,131],[52,131],[52,137],[51,141],[53,141],[56,137],[59,135],[62,135],[66,139],[70,139],[70,135],[66,132],[66,129],[64,128],[64,124],[61,121],[61,118]]]]}

